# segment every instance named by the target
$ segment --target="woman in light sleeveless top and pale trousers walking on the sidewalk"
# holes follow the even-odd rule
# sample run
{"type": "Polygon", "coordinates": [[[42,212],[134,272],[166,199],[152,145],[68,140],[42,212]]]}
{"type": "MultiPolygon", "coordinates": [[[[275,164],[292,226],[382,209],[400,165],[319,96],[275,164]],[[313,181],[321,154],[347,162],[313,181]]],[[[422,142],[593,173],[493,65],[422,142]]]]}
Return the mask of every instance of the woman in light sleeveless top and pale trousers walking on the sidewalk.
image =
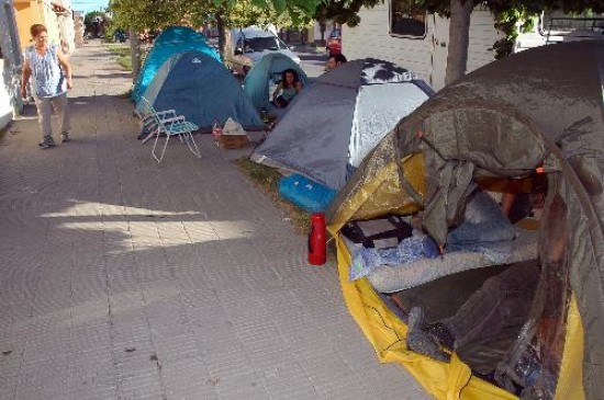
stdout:
{"type": "Polygon", "coordinates": [[[27,98],[27,83],[33,77],[33,90],[37,118],[42,130],[40,147],[47,149],[55,146],[51,126],[52,108],[58,114],[61,141],[69,141],[69,112],[67,90],[74,88],[71,82],[71,66],[60,47],[48,44],[48,31],[42,24],[33,24],[30,33],[34,45],[25,48],[23,62],[23,79],[21,95],[27,98]]]}

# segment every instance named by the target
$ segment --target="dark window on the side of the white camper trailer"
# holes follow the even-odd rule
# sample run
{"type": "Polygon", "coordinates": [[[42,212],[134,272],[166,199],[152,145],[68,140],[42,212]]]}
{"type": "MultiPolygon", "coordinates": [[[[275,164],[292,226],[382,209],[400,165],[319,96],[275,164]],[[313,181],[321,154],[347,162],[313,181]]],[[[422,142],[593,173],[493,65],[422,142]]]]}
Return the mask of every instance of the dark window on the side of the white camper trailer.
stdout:
{"type": "Polygon", "coordinates": [[[426,12],[414,0],[390,0],[390,35],[426,36],[426,12]]]}

